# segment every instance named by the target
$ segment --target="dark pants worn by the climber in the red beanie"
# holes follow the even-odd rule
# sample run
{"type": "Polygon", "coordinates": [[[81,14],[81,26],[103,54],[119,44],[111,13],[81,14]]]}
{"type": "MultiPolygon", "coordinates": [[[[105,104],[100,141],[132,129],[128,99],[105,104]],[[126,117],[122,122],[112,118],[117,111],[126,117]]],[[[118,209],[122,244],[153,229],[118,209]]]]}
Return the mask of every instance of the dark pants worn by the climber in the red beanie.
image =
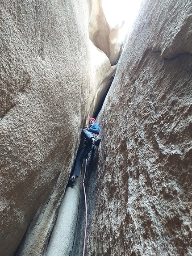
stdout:
{"type": "Polygon", "coordinates": [[[92,150],[92,142],[90,141],[90,139],[94,138],[93,135],[88,130],[83,129],[82,134],[85,138],[88,139],[88,145],[86,145],[83,148],[83,150],[80,152],[80,154],[76,158],[75,168],[73,172],[73,175],[76,175],[76,177],[79,177],[81,166],[83,164],[83,159],[87,157],[88,153],[92,150]]]}

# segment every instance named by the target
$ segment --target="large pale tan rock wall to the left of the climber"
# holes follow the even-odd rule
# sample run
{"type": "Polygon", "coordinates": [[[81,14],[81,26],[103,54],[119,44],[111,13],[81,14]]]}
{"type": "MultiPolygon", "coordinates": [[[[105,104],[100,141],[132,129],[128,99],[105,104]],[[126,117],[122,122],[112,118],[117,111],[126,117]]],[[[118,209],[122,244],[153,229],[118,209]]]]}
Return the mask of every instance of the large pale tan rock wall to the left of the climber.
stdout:
{"type": "Polygon", "coordinates": [[[90,48],[91,2],[1,1],[2,256],[13,255],[24,234],[17,255],[42,255],[81,127],[113,75],[106,55],[95,47],[99,62],[90,48]]]}

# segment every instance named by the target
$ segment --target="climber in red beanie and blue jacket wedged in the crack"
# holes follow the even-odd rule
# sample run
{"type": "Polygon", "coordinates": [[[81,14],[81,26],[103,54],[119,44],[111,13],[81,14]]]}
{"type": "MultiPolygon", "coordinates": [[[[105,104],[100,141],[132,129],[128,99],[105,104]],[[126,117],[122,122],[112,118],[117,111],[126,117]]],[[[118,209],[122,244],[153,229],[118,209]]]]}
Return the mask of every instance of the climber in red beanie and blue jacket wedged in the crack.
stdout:
{"type": "Polygon", "coordinates": [[[88,153],[92,150],[94,146],[99,146],[99,143],[101,141],[101,139],[97,137],[99,132],[100,126],[96,123],[95,118],[90,118],[89,127],[88,125],[85,125],[85,128],[82,130],[82,134],[86,139],[85,147],[76,158],[74,172],[68,182],[68,186],[73,185],[73,183],[75,183],[75,179],[79,177],[81,166],[83,164],[83,159],[87,157],[88,153]]]}

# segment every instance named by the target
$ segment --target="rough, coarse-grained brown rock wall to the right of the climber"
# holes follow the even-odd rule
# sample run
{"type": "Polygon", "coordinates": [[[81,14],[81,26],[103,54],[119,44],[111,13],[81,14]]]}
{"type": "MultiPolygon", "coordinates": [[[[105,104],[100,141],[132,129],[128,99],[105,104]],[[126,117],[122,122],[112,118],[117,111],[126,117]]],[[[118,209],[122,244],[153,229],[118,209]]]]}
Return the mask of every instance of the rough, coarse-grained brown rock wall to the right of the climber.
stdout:
{"type": "Polygon", "coordinates": [[[143,2],[97,118],[86,255],[192,255],[191,13],[190,1],[143,2]]]}

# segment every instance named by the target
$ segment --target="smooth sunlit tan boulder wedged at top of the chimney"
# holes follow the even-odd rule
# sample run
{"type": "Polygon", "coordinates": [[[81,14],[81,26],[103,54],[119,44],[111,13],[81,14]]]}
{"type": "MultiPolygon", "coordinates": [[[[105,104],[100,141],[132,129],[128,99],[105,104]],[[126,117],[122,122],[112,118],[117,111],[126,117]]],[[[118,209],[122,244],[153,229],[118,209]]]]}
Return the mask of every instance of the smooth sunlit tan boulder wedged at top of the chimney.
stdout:
{"type": "Polygon", "coordinates": [[[93,0],[92,2],[89,38],[96,47],[104,51],[111,64],[114,65],[117,63],[120,55],[120,32],[124,23],[122,22],[115,27],[111,27],[104,15],[102,0],[93,0]]]}

